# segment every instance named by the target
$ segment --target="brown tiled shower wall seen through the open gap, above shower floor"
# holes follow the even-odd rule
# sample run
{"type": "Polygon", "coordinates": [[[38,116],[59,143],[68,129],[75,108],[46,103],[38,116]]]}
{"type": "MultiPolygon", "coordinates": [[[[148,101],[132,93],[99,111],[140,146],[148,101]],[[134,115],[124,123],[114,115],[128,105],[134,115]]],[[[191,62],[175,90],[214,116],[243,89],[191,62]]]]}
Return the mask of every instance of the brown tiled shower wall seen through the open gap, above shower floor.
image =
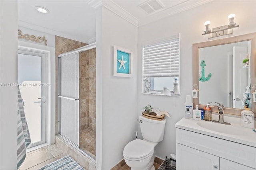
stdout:
{"type": "Polygon", "coordinates": [[[80,130],[96,129],[96,48],[80,53],[80,130]]]}

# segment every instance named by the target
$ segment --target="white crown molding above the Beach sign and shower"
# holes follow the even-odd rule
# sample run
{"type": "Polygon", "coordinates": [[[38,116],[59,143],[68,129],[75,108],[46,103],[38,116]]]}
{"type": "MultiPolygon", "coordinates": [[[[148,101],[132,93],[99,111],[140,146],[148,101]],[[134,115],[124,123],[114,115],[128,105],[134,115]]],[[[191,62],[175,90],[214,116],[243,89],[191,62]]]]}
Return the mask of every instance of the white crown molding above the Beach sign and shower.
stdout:
{"type": "Polygon", "coordinates": [[[31,24],[31,23],[24,22],[24,21],[21,21],[21,20],[18,20],[18,26],[25,27],[25,28],[28,28],[28,29],[33,29],[33,30],[40,31],[40,32],[43,32],[43,33],[48,33],[48,34],[51,34],[51,35],[57,35],[57,36],[60,36],[60,37],[65,37],[65,38],[68,38],[68,39],[72,39],[72,40],[75,40],[75,41],[80,41],[80,42],[88,44],[88,40],[84,41],[84,39],[82,39],[80,37],[74,37],[74,36],[66,34],[66,33],[61,33],[60,31],[55,31],[53,29],[48,29],[48,28],[45,28],[45,27],[41,27],[41,26],[38,26],[38,25],[34,25],[34,24],[31,24]]]}

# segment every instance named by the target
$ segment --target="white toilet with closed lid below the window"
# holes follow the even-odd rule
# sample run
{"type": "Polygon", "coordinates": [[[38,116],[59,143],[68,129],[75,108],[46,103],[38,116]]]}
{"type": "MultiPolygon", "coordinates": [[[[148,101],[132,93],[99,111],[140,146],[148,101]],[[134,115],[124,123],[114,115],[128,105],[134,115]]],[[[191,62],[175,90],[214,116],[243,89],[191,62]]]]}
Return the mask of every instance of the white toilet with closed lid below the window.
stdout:
{"type": "Polygon", "coordinates": [[[124,147],[124,160],[131,170],[155,170],[154,148],[164,139],[166,120],[158,121],[142,116],[140,120],[142,120],[140,129],[143,140],[135,139],[124,147]]]}

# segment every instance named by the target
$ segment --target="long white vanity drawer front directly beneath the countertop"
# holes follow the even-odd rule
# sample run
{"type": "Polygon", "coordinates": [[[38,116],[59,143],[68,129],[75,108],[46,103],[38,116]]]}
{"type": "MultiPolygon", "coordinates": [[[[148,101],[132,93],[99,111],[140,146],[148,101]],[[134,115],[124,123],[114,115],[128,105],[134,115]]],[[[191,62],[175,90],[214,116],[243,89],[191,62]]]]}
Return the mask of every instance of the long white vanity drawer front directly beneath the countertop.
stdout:
{"type": "Polygon", "coordinates": [[[256,148],[176,128],[176,143],[256,168],[256,148]]]}

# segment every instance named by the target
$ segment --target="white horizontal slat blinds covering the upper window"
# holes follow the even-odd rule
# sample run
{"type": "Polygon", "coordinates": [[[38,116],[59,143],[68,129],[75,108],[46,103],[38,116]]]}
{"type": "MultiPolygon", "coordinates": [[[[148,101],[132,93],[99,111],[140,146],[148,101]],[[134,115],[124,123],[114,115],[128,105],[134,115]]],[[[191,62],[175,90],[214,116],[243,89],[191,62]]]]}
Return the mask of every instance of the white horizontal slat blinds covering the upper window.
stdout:
{"type": "Polygon", "coordinates": [[[179,76],[180,37],[143,47],[143,77],[179,76]]]}

